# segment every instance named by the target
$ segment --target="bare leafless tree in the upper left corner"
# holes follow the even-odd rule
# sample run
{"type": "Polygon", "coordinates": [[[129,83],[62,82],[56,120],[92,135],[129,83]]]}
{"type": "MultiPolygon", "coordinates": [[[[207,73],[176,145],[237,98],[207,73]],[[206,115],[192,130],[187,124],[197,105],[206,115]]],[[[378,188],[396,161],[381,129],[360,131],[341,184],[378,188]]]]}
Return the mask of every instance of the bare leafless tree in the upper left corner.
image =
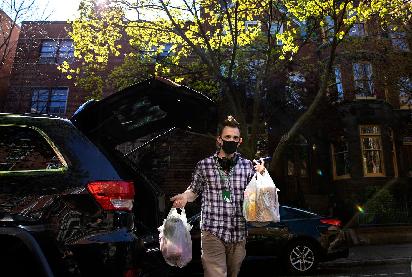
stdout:
{"type": "MultiPolygon", "coordinates": [[[[51,84],[51,78],[43,70],[44,65],[38,61],[33,62],[33,55],[31,55],[34,54],[35,59],[38,59],[34,49],[36,46],[40,47],[33,34],[44,33],[43,26],[48,23],[42,21],[46,21],[49,15],[44,13],[36,0],[3,1],[1,11],[0,110],[19,112],[25,99],[33,93],[34,85],[41,87],[41,84],[46,81],[49,81],[48,85],[51,84]],[[26,28],[21,29],[19,24],[26,20],[33,22],[26,23],[26,28]],[[18,56],[19,61],[13,64],[15,55],[18,56]],[[5,107],[5,102],[13,102],[13,104],[5,107]]],[[[59,78],[55,81],[59,82],[59,78]]]]}

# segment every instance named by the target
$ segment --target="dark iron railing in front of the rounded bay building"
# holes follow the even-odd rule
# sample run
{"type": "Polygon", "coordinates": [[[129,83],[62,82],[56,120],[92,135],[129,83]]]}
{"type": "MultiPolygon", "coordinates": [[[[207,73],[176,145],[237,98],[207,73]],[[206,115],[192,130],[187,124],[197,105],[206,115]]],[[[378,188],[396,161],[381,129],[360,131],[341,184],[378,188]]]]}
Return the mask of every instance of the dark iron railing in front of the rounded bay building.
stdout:
{"type": "Polygon", "coordinates": [[[412,200],[368,202],[357,205],[358,226],[412,225],[412,200]]]}

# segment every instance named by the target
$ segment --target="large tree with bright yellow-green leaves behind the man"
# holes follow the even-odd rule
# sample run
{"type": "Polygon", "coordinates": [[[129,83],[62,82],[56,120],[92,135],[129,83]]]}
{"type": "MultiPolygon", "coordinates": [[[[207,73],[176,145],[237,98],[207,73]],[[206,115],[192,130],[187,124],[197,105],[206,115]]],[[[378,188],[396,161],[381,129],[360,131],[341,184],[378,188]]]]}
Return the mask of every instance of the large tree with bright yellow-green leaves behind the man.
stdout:
{"type": "MultiPolygon", "coordinates": [[[[287,86],[274,91],[273,80],[283,76],[286,84],[288,72],[300,72],[304,77],[318,70],[313,67],[316,57],[304,53],[316,47],[316,30],[326,21],[332,22],[325,50],[330,58],[322,65],[321,86],[288,132],[292,137],[324,95],[339,43],[354,22],[372,10],[366,7],[363,14],[348,19],[346,11],[352,8],[353,1],[348,0],[115,0],[104,5],[89,0],[80,3],[80,16],[70,34],[75,55],[84,58],[85,66],[73,69],[63,64],[62,70],[70,71],[83,86],[113,84],[122,88],[137,81],[136,76],[156,74],[178,82],[185,79],[194,89],[226,100],[224,111],[233,113],[241,124],[241,136],[249,138],[243,140],[241,152],[252,159],[264,122],[287,104],[287,86]],[[105,75],[105,83],[104,74],[96,71],[107,69],[108,57],[121,53],[119,42],[124,39],[129,40],[130,51],[124,52],[123,65],[105,75]]],[[[94,97],[101,97],[102,92],[102,86],[97,86],[94,97]]],[[[271,166],[278,158],[275,153],[271,166]]]]}

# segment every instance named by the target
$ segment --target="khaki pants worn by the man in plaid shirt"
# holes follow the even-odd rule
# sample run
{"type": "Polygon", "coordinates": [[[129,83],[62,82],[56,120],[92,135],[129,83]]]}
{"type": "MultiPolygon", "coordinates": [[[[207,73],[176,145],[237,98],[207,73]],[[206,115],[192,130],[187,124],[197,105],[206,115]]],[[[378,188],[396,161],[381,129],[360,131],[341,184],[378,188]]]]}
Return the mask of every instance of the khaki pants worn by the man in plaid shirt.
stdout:
{"type": "Polygon", "coordinates": [[[201,235],[201,259],[204,277],[236,277],[246,256],[246,240],[237,243],[222,241],[208,231],[201,235]]]}

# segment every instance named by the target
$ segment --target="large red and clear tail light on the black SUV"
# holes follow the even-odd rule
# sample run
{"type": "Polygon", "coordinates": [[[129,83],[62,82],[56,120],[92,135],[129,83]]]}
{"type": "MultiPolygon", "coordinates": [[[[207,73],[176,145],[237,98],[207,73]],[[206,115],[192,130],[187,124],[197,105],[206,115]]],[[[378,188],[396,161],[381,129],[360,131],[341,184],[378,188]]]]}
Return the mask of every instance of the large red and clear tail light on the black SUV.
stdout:
{"type": "Polygon", "coordinates": [[[133,207],[133,182],[121,180],[89,182],[87,189],[105,211],[128,211],[133,207]]]}

